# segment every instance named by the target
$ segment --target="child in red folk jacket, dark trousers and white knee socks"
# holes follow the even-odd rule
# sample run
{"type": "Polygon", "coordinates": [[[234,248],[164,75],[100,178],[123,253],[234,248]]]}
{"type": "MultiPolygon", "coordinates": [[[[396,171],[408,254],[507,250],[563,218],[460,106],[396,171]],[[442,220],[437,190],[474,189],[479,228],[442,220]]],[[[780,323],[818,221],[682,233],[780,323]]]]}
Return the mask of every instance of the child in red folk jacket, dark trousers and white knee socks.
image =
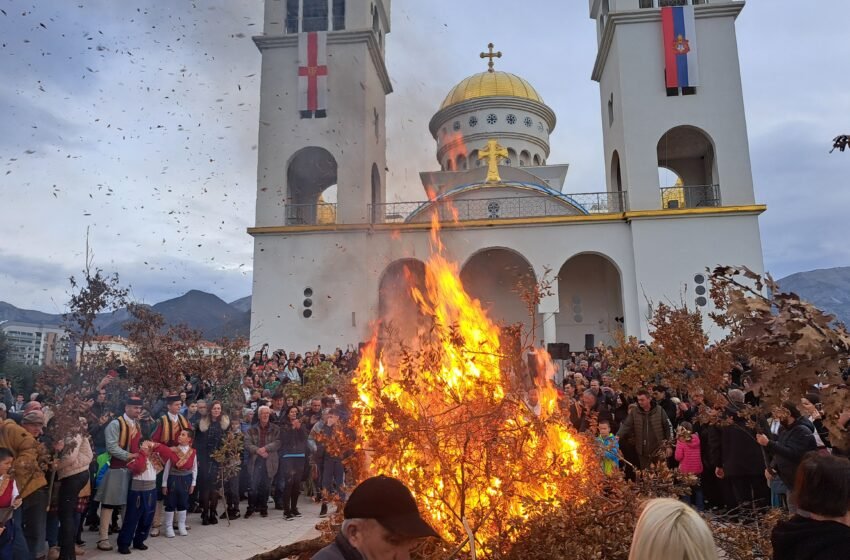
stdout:
{"type": "Polygon", "coordinates": [[[191,430],[181,430],[177,445],[168,447],[161,443],[154,448],[160,457],[166,459],[162,476],[162,493],[165,494],[165,536],[174,537],[174,516],[177,515],[177,531],[185,537],[186,513],[189,509],[189,495],[195,491],[198,480],[198,461],[192,448],[191,430]]]}

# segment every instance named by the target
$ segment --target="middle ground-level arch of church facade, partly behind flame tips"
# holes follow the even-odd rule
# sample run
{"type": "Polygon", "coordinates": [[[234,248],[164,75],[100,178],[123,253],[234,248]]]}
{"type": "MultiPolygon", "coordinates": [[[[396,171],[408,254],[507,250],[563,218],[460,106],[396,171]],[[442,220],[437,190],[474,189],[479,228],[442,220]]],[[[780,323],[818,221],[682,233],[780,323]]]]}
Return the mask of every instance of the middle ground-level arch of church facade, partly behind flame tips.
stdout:
{"type": "Polygon", "coordinates": [[[525,257],[509,249],[484,249],[464,263],[460,279],[469,295],[481,301],[491,320],[503,326],[520,324],[524,338],[532,336],[526,342],[540,340],[540,316],[535,310],[537,332],[532,333],[532,318],[522,299],[537,284],[534,269],[525,257]]]}

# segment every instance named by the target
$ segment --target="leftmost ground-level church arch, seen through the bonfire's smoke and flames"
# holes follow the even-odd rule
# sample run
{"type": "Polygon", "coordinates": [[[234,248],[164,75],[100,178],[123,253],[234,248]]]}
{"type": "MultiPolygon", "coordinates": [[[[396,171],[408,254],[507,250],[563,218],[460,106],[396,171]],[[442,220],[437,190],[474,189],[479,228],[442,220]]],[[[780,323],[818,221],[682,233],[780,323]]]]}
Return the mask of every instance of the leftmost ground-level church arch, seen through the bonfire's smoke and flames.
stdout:
{"type": "Polygon", "coordinates": [[[417,338],[420,329],[427,328],[428,322],[411,295],[412,287],[425,291],[425,264],[422,261],[400,259],[384,269],[378,284],[382,337],[392,333],[409,343],[417,338]]]}

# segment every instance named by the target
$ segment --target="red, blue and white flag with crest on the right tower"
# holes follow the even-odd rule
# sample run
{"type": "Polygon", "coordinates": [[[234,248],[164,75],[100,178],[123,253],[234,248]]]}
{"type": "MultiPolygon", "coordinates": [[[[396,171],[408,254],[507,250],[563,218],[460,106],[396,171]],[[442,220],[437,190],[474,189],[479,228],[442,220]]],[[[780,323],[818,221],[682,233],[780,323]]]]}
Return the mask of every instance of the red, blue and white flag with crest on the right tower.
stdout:
{"type": "Polygon", "coordinates": [[[699,62],[697,60],[694,7],[668,6],[661,8],[661,27],[664,31],[667,87],[698,86],[699,62]]]}

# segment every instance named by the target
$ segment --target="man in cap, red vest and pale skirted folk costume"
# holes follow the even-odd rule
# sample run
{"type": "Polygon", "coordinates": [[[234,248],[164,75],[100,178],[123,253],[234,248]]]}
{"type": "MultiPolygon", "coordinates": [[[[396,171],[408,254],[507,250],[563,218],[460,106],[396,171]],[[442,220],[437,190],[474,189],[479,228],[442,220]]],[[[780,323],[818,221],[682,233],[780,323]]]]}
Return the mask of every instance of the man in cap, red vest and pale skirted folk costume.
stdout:
{"type": "Polygon", "coordinates": [[[112,545],[109,544],[112,510],[127,505],[127,495],[130,492],[130,471],[127,464],[139,454],[142,434],[138,420],[141,413],[142,399],[131,396],[124,404],[124,414],[112,420],[104,430],[109,469],[97,488],[95,498],[101,504],[100,536],[97,541],[99,550],[112,550],[112,545]]]}

